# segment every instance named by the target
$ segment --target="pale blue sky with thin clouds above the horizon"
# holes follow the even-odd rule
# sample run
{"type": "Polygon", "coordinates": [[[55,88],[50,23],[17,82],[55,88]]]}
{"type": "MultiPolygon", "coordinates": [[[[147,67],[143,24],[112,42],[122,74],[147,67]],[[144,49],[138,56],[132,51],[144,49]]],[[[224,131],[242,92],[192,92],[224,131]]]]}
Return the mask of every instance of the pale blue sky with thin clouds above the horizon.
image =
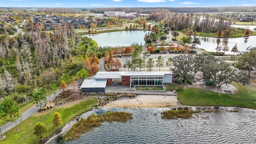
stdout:
{"type": "Polygon", "coordinates": [[[0,7],[216,7],[256,6],[256,0],[0,0],[0,7]]]}

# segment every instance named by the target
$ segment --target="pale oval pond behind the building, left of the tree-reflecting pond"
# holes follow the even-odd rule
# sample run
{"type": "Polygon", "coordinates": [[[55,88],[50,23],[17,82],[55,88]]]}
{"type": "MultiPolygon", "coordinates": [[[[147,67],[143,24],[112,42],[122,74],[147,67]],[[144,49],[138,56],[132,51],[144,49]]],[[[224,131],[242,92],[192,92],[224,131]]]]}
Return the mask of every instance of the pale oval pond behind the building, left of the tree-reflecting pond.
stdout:
{"type": "Polygon", "coordinates": [[[84,34],[98,43],[98,46],[130,46],[134,42],[145,44],[144,36],[149,31],[127,30],[121,32],[106,32],[100,34],[84,34]]]}

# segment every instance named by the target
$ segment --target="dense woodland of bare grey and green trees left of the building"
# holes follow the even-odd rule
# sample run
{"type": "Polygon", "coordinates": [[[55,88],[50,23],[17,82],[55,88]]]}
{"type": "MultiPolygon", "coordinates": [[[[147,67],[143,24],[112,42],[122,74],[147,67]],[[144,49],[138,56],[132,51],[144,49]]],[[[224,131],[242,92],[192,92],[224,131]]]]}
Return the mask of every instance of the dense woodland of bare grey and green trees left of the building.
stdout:
{"type": "Polygon", "coordinates": [[[96,47],[91,38],[76,35],[70,25],[56,26],[51,33],[41,28],[31,25],[13,38],[5,28],[0,35],[0,98],[11,98],[23,106],[36,90],[50,90],[61,80],[70,84],[72,77],[79,80],[80,70],[90,75],[99,70],[98,58],[107,47],[96,47]]]}

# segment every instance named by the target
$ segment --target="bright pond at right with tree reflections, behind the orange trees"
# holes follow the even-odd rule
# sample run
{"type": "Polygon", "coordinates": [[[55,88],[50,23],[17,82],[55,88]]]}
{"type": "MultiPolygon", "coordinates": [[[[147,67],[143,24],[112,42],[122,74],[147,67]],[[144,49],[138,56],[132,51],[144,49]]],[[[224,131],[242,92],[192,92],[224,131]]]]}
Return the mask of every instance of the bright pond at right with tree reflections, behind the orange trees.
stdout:
{"type": "MultiPolygon", "coordinates": [[[[196,36],[199,38],[201,45],[197,45],[198,48],[202,48],[209,52],[216,52],[215,48],[217,47],[217,39],[218,38],[210,38],[203,36],[196,36]]],[[[192,36],[194,38],[194,36],[192,36]]],[[[227,42],[229,51],[225,52],[225,54],[234,54],[234,52],[230,52],[234,45],[237,43],[237,48],[239,51],[246,51],[246,48],[249,46],[256,46],[256,36],[249,36],[243,38],[220,38],[220,44],[225,44],[227,42]]],[[[223,52],[223,51],[220,51],[223,52]]]]}

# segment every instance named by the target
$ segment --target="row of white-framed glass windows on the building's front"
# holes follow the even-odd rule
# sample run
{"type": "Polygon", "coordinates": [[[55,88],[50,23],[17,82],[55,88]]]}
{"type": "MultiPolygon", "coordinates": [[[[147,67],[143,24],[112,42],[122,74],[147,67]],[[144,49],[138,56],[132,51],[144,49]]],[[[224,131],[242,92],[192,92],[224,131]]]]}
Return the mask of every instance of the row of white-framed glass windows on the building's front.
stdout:
{"type": "Polygon", "coordinates": [[[162,86],[163,77],[132,77],[131,84],[133,86],[162,86]]]}

